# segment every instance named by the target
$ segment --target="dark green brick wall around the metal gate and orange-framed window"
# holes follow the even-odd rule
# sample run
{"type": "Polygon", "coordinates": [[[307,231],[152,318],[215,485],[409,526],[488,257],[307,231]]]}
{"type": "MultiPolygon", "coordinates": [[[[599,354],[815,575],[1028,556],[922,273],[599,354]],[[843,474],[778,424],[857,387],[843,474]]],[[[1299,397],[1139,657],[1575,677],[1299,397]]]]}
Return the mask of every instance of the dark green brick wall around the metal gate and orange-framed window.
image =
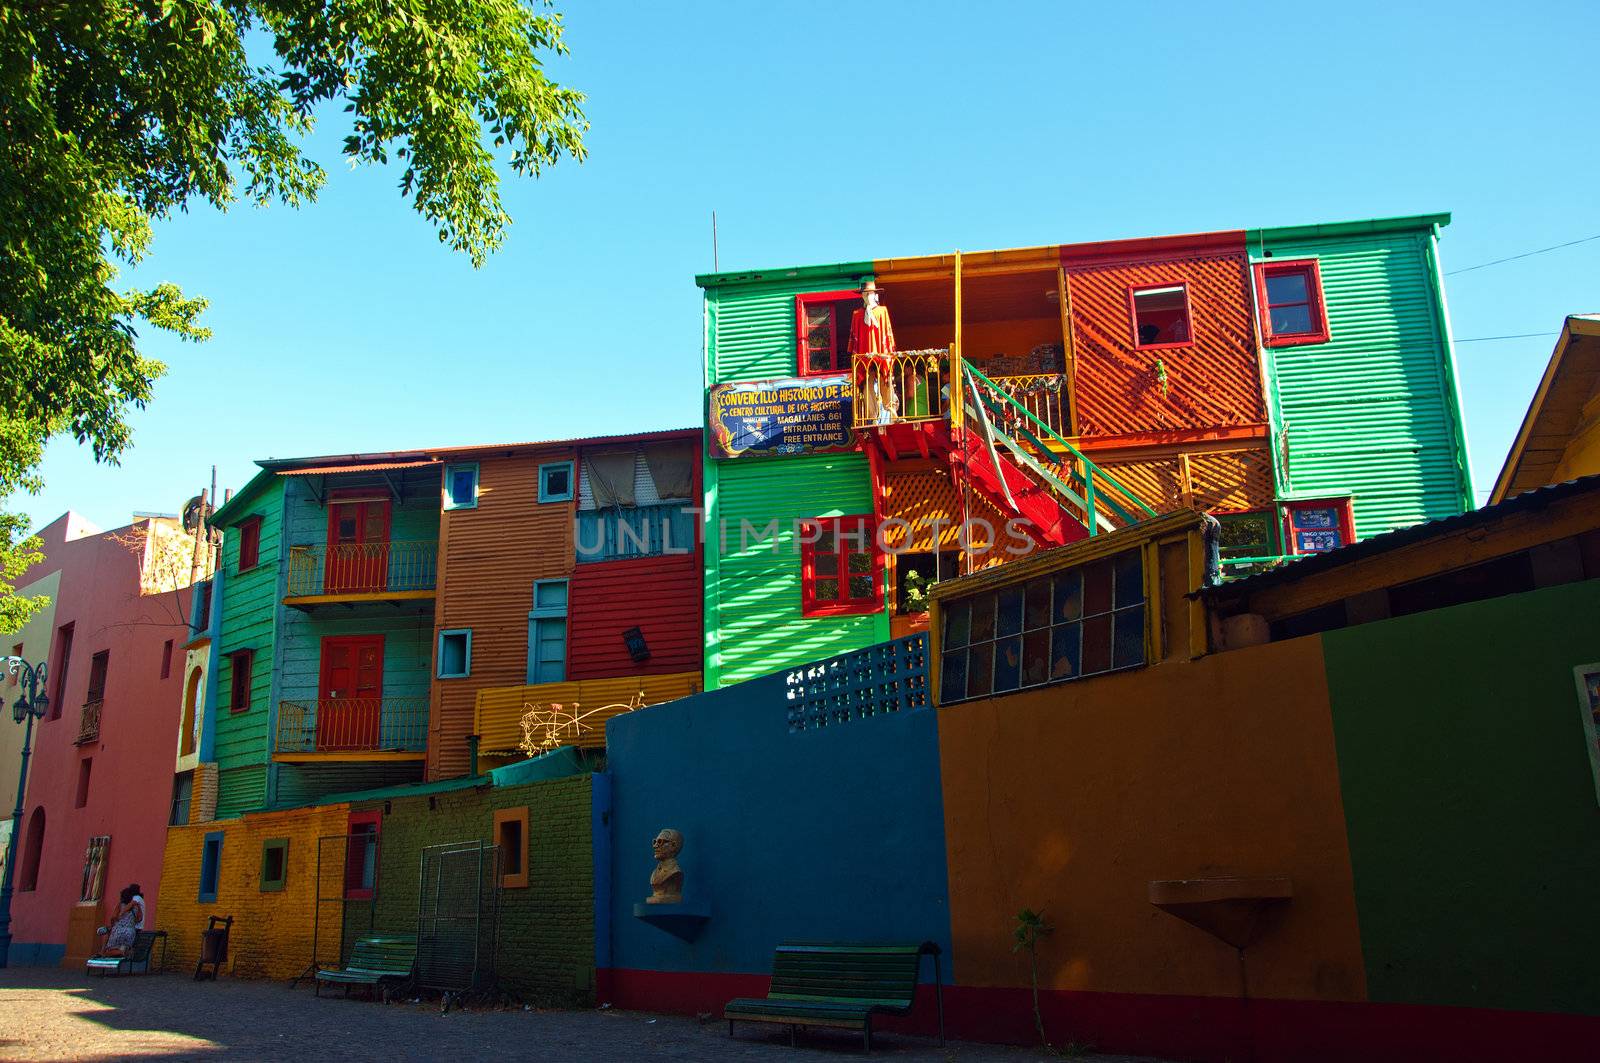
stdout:
{"type": "MultiPolygon", "coordinates": [[[[501,981],[531,1004],[592,1004],[594,780],[589,775],[390,799],[379,845],[376,925],[416,933],[424,845],[491,840],[498,808],[528,808],[528,889],[501,890],[501,981]],[[432,807],[429,804],[432,802],[432,807]]],[[[355,802],[352,810],[386,802],[355,802]]]]}

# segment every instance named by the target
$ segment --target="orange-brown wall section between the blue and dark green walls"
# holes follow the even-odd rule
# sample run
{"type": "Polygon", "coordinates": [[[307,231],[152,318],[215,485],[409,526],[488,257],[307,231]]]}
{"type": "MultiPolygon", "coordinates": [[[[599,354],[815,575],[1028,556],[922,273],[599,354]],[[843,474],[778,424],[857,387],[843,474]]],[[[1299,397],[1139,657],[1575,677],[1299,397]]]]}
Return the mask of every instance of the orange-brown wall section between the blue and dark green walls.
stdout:
{"type": "Polygon", "coordinates": [[[1045,988],[1232,997],[1234,949],[1147,884],[1288,874],[1251,996],[1365,999],[1318,639],[939,709],[939,760],[957,983],[1026,986],[1043,908],[1045,988]]]}

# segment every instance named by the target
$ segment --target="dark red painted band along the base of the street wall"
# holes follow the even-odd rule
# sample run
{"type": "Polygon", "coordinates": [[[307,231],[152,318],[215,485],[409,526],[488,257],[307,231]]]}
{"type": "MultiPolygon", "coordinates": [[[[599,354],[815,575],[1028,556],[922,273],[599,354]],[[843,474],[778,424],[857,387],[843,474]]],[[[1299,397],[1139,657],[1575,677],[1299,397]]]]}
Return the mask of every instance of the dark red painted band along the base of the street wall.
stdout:
{"type": "MultiPolygon", "coordinates": [[[[944,973],[949,977],[947,964],[944,973]]],[[[610,1002],[621,1009],[710,1012],[720,1021],[728,1001],[766,996],[771,980],[765,973],[610,969],[600,972],[597,985],[608,986],[610,1002]]],[[[874,1020],[874,1029],[936,1034],[933,993],[933,985],[918,985],[912,1013],[874,1020]]],[[[1099,1052],[1216,1063],[1579,1063],[1592,1060],[1600,1042],[1600,1018],[1590,1015],[1067,989],[1042,989],[1038,996],[1045,1033],[1056,1044],[1077,1041],[1099,1052]]],[[[1038,1042],[1027,988],[946,985],[944,1025],[949,1036],[968,1041],[1038,1042]]],[[[739,1026],[736,1036],[754,1041],[758,1029],[739,1026]]],[[[818,1044],[840,1037],[842,1045],[851,1037],[842,1031],[808,1036],[818,1044]]]]}

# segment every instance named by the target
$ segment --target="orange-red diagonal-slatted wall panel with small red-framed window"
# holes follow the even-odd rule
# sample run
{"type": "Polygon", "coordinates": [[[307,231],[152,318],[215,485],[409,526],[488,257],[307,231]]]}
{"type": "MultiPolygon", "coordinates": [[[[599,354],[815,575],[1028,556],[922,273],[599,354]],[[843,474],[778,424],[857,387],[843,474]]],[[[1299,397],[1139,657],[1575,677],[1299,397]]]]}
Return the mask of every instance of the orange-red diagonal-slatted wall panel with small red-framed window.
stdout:
{"type": "Polygon", "coordinates": [[[1243,248],[1139,261],[1066,261],[1078,431],[1085,439],[1221,426],[1261,426],[1267,410],[1243,248]],[[1194,343],[1134,347],[1130,288],[1189,290],[1194,343]],[[1157,373],[1166,368],[1166,387],[1157,373]]]}

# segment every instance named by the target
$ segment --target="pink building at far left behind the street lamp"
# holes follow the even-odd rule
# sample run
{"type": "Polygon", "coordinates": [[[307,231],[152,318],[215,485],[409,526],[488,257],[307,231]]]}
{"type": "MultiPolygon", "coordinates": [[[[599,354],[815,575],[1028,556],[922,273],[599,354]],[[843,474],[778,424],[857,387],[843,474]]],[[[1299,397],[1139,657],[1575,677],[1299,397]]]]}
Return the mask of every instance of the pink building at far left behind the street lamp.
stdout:
{"type": "Polygon", "coordinates": [[[99,532],[69,512],[38,535],[45,560],[22,586],[51,607],[11,652],[48,661],[50,709],[34,730],[11,962],[72,965],[123,885],[142,887],[147,922],[160,911],[184,618],[210,554],[173,517],[99,532]]]}

